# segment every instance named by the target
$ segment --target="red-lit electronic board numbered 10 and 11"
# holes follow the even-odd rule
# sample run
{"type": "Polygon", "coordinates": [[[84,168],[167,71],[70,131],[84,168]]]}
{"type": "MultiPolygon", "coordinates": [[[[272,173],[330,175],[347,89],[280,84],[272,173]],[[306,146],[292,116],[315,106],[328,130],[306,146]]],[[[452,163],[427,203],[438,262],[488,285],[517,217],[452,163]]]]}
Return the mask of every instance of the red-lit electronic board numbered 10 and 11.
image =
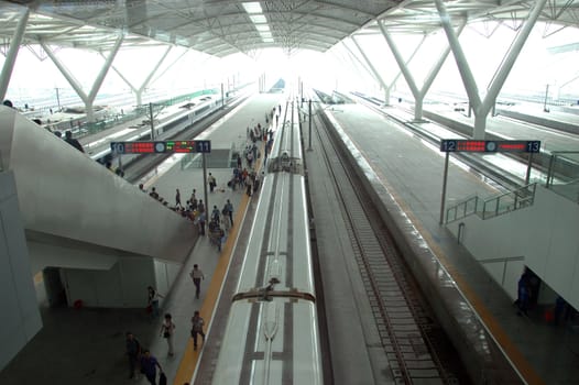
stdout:
{"type": "Polygon", "coordinates": [[[210,153],[211,141],[111,142],[116,154],[210,153]]]}

